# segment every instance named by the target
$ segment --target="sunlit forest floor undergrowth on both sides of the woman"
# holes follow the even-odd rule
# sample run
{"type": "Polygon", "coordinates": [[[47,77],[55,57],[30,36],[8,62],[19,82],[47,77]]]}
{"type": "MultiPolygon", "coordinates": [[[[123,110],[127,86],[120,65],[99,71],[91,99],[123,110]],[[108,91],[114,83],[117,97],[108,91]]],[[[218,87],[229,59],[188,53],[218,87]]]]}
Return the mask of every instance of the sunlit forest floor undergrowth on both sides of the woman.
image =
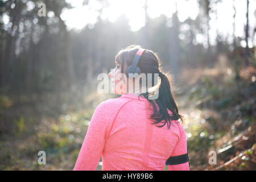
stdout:
{"type": "MultiPolygon", "coordinates": [[[[240,81],[230,68],[181,75],[176,102],[184,115],[191,170],[255,170],[255,69],[242,70],[240,81]]],[[[68,109],[60,114],[44,98],[36,105],[23,98],[20,106],[1,96],[0,169],[72,170],[95,107],[113,97],[87,94],[85,105],[64,105],[68,109]],[[45,165],[38,164],[39,151],[47,154],[45,165]]]]}

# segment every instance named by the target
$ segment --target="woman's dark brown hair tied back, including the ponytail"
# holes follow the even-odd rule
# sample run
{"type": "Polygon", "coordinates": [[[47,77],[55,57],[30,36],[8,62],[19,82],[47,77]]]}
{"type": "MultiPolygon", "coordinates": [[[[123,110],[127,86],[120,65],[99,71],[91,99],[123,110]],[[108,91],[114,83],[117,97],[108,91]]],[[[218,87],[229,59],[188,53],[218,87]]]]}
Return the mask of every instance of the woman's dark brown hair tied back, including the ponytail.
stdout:
{"type": "MultiPolygon", "coordinates": [[[[141,46],[133,44],[131,46],[126,47],[125,49],[121,49],[121,51],[118,52],[117,56],[115,56],[115,62],[121,65],[121,73],[125,73],[125,64],[127,66],[131,65],[134,56],[139,48],[141,48],[141,46]]],[[[162,69],[160,68],[160,60],[158,58],[158,55],[156,55],[156,53],[154,53],[153,51],[146,49],[146,51],[139,59],[138,67],[141,69],[141,73],[146,73],[146,75],[147,73],[153,73],[152,86],[158,84],[154,82],[154,73],[158,73],[161,79],[158,98],[156,100],[148,99],[148,96],[154,94],[148,92],[148,90],[146,93],[142,93],[139,95],[139,97],[147,98],[147,100],[153,106],[154,113],[151,114],[151,119],[154,120],[154,124],[163,123],[163,125],[158,125],[158,127],[163,127],[167,124],[168,128],[170,129],[171,120],[181,119],[181,121],[183,121],[183,115],[179,114],[179,110],[177,109],[174,97],[172,96],[173,94],[170,86],[170,78],[166,73],[162,72],[162,69]],[[159,109],[157,109],[155,103],[158,105],[159,109]],[[172,115],[168,113],[167,109],[172,112],[172,115]]],[[[148,77],[146,78],[148,79],[148,77]]]]}

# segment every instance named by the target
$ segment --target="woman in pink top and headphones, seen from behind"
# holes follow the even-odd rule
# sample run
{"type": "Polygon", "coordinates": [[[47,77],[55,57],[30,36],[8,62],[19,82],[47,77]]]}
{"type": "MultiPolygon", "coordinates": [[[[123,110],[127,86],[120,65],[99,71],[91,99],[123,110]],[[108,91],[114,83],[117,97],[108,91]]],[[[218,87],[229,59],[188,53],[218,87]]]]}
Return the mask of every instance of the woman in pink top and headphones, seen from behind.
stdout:
{"type": "MultiPolygon", "coordinates": [[[[170,80],[160,70],[158,56],[144,50],[139,57],[139,77],[127,78],[127,67],[141,51],[131,45],[115,56],[116,67],[109,73],[113,92],[122,94],[97,106],[90,121],[74,170],[95,170],[102,157],[102,170],[163,170],[167,159],[187,154],[187,139],[179,121],[181,115],[172,97],[170,80]],[[121,79],[118,74],[125,73],[121,79]],[[158,73],[160,86],[152,77],[152,86],[158,88],[158,97],[151,100],[152,92],[146,85],[142,92],[142,73],[158,73]],[[131,81],[132,80],[132,81],[131,81]],[[130,84],[129,85],[129,81],[130,84]],[[139,89],[134,83],[139,81],[139,89]],[[121,86],[116,85],[122,83],[121,86]]],[[[151,79],[151,80],[148,80],[151,79]]],[[[171,163],[169,170],[189,170],[189,162],[171,163]]]]}

